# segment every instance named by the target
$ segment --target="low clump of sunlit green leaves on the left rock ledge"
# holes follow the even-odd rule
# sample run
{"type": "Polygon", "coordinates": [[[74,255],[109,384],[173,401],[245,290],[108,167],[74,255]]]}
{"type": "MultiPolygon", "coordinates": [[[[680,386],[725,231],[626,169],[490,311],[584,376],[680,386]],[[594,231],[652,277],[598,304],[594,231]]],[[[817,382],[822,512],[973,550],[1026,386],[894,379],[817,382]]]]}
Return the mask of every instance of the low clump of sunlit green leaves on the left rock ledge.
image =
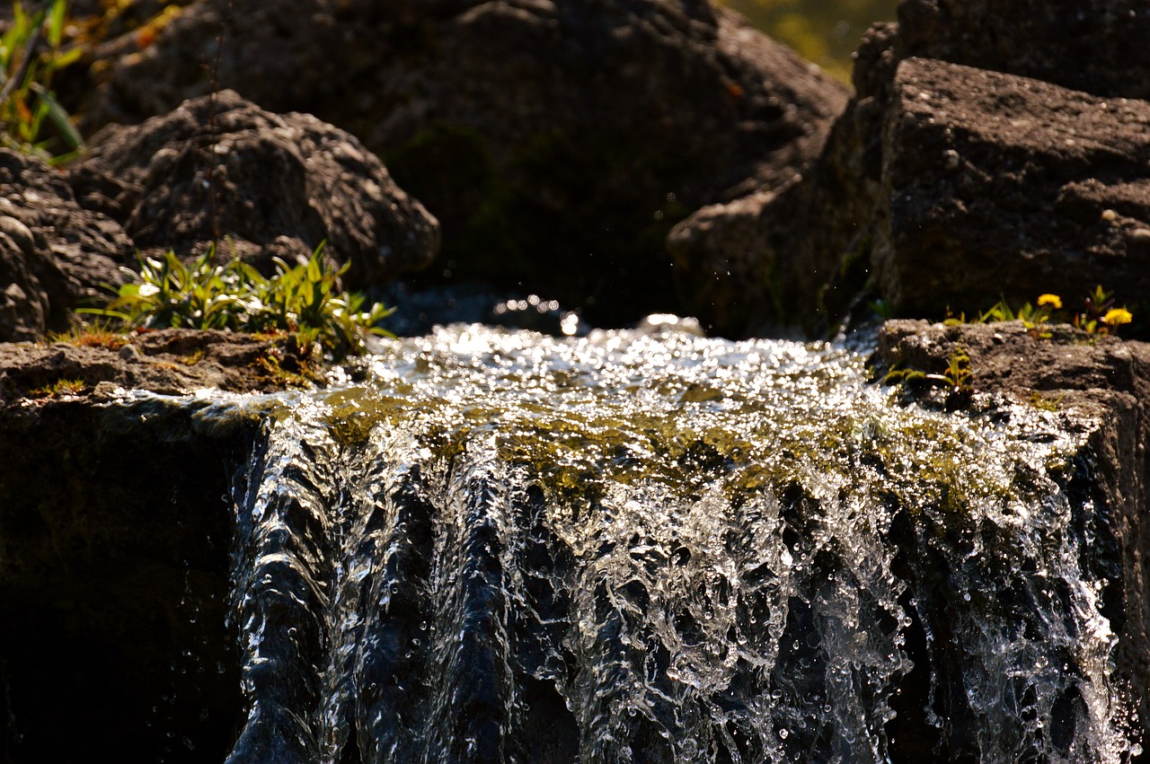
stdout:
{"type": "Polygon", "coordinates": [[[356,293],[339,291],[347,265],[331,270],[321,244],[301,265],[276,258],[276,275],[262,276],[233,258],[214,262],[214,249],[191,264],[167,253],[140,257],[139,273],[103,308],[82,312],[112,318],[128,329],[217,329],[262,334],[290,332],[301,347],[319,342],[336,357],[363,353],[369,335],[390,335],[377,324],[391,314],[381,303],[365,308],[356,293]]]}

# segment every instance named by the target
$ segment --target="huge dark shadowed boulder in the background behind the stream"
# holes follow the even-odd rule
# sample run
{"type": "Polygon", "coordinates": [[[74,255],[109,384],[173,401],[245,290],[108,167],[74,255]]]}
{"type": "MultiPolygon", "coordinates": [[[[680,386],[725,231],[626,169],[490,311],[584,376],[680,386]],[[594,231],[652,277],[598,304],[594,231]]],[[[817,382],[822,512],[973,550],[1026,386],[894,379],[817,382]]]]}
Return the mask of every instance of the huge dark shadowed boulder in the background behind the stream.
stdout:
{"type": "Polygon", "coordinates": [[[436,275],[600,322],[680,311],[670,226],[788,182],[845,102],[700,0],[201,0],[93,69],[90,122],[208,92],[221,30],[221,85],[354,132],[440,219],[436,275]]]}

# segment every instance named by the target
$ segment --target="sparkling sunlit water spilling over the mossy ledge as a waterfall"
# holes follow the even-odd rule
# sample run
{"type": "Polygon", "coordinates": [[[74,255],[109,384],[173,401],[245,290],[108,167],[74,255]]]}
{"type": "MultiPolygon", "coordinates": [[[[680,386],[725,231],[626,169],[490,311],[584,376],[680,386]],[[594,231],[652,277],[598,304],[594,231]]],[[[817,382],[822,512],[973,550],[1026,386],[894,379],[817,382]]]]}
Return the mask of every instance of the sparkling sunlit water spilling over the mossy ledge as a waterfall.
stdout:
{"type": "Polygon", "coordinates": [[[1081,442],[862,365],[457,326],[263,402],[229,762],[1124,761],[1081,442]]]}

